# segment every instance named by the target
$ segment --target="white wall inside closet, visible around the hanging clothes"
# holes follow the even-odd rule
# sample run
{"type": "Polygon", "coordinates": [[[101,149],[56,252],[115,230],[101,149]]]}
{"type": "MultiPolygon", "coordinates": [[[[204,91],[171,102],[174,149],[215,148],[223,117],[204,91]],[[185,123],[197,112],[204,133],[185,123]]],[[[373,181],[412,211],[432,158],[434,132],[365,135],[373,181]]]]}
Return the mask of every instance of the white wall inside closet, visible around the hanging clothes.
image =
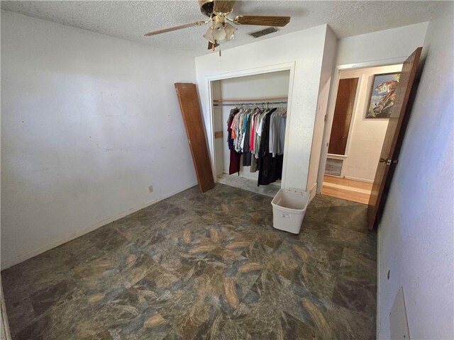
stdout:
{"type": "MultiPolygon", "coordinates": [[[[275,98],[287,97],[289,94],[289,71],[270,72],[255,74],[253,76],[223,79],[221,84],[222,99],[250,99],[250,98],[275,98]]],[[[228,114],[234,106],[222,106],[222,131],[226,135],[228,114]]],[[[227,145],[227,137],[216,140],[223,149],[223,173],[228,174],[230,164],[230,150],[227,145]]],[[[216,166],[217,159],[216,159],[216,166]]],[[[250,167],[240,166],[240,177],[258,180],[258,171],[250,172],[250,167]]]]}

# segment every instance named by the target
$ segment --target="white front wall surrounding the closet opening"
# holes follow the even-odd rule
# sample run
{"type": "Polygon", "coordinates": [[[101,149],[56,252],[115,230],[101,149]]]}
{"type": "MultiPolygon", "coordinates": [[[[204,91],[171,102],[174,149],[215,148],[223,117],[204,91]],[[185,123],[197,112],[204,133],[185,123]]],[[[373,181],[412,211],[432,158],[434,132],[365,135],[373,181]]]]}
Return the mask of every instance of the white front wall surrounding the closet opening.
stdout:
{"type": "MultiPolygon", "coordinates": [[[[238,76],[240,72],[259,73],[260,70],[294,63],[293,91],[289,93],[292,106],[287,114],[287,167],[284,165],[284,186],[306,189],[309,174],[309,157],[319,94],[321,63],[325,47],[327,26],[260,40],[246,46],[223,50],[196,57],[197,84],[204,112],[207,135],[211,136],[209,116],[209,79],[238,76]]],[[[212,152],[213,140],[209,138],[212,152]]]]}

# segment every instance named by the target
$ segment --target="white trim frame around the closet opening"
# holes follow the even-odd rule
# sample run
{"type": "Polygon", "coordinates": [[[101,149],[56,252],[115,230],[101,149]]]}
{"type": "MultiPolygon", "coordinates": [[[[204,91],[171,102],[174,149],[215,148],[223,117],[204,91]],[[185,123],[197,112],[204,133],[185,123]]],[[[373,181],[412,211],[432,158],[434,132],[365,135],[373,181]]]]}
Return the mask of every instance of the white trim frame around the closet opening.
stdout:
{"type": "MultiPolygon", "coordinates": [[[[282,179],[281,179],[281,188],[285,188],[285,179],[287,174],[287,155],[288,155],[288,145],[289,145],[289,128],[292,119],[292,98],[293,98],[293,85],[294,85],[294,72],[295,72],[295,62],[285,62],[282,64],[272,64],[265,67],[255,67],[253,69],[241,69],[234,72],[223,72],[219,74],[211,74],[204,77],[206,93],[208,94],[206,107],[209,108],[209,125],[211,131],[214,132],[214,107],[213,107],[213,91],[211,82],[218,81],[223,79],[231,79],[238,77],[248,77],[256,74],[266,74],[279,71],[289,71],[289,95],[287,97],[287,125],[285,127],[285,140],[284,140],[284,162],[282,164],[282,179]]],[[[211,169],[213,171],[214,181],[217,182],[216,175],[216,138],[214,133],[207,136],[209,143],[213,146],[209,148],[209,154],[211,157],[211,169]]]]}

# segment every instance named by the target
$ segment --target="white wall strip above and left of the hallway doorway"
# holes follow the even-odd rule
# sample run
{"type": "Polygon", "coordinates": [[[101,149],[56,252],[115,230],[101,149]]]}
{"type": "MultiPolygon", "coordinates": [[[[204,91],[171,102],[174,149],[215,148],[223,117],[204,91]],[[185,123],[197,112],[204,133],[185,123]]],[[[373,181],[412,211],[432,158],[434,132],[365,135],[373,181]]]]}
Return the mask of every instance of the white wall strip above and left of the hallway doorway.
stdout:
{"type": "MultiPolygon", "coordinates": [[[[334,106],[338,90],[339,72],[343,69],[360,67],[376,67],[390,64],[399,64],[406,57],[422,46],[426,35],[428,23],[380,30],[379,32],[355,35],[338,40],[336,67],[333,74],[333,86],[331,86],[328,101],[328,117],[323,132],[321,146],[321,159],[319,165],[319,182],[323,181],[323,172],[326,166],[326,154],[333,123],[334,106]]],[[[319,186],[317,191],[320,191],[319,186]]]]}

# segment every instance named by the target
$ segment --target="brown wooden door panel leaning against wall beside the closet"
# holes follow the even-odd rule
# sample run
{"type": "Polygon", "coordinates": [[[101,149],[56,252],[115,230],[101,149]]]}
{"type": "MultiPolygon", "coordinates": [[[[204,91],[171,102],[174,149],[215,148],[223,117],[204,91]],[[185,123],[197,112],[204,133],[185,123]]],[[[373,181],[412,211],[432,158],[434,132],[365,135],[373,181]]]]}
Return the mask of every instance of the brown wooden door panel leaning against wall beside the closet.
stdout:
{"type": "Polygon", "coordinates": [[[199,191],[204,193],[214,187],[214,179],[208,147],[206,146],[204,123],[201,120],[197,88],[192,83],[175,83],[175,89],[177,90],[179,108],[182,111],[187,141],[196,170],[199,191]]]}

